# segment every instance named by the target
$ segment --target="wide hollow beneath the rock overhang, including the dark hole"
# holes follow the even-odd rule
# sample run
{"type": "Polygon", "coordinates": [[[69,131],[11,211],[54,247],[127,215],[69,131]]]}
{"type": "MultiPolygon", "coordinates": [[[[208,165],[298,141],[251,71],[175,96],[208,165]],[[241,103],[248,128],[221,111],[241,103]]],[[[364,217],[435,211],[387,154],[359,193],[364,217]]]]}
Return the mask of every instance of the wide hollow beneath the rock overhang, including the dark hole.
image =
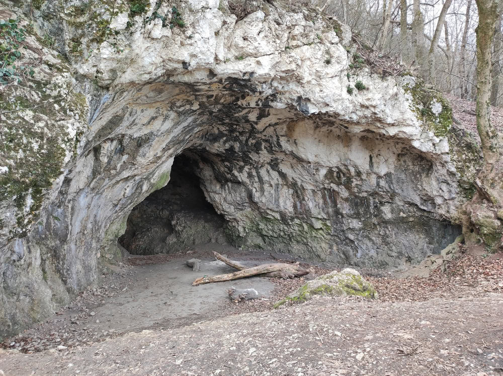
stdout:
{"type": "Polygon", "coordinates": [[[137,255],[212,242],[386,268],[419,263],[461,233],[442,214],[456,187],[431,155],[323,119],[274,119],[189,129],[173,166],[166,155],[142,178],[156,187],[171,169],[164,188],[145,190],[119,243],[137,255]]]}

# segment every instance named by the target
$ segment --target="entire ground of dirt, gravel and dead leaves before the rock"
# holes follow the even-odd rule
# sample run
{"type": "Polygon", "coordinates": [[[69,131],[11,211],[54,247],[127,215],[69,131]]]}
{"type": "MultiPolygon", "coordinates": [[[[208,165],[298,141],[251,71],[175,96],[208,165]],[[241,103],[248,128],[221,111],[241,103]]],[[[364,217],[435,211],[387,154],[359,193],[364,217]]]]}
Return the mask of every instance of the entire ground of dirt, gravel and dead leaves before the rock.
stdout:
{"type": "MultiPolygon", "coordinates": [[[[6,340],[0,375],[503,374],[502,255],[465,254],[427,278],[360,269],[379,301],[318,298],[272,310],[303,280],[192,287],[199,276],[233,271],[212,250],[250,266],[274,261],[218,244],[132,256],[54,317],[6,340]],[[203,260],[201,271],[185,265],[192,257],[203,260]],[[265,297],[234,303],[231,286],[265,297]]],[[[304,266],[314,275],[334,268],[304,266]]]]}

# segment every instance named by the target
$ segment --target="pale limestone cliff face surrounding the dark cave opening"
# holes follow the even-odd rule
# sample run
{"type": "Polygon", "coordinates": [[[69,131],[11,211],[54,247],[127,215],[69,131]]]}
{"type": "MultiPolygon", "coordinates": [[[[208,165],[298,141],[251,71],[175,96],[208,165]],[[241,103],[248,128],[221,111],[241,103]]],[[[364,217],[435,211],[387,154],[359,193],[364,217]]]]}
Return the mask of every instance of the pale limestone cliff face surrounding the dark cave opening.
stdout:
{"type": "MultiPolygon", "coordinates": [[[[33,213],[29,187],[2,196],[0,335],[41,319],[120,257],[129,213],[169,182],[182,152],[237,246],[392,266],[458,235],[445,219],[464,202],[476,158],[454,152],[448,107],[418,99],[413,77],[355,67],[344,25],[278,0],[34,3],[39,33],[69,60],[50,52],[68,70],[44,82],[76,84],[64,103],[81,111],[46,106],[40,127],[58,134],[61,158],[33,213]],[[21,214],[34,221],[22,234],[21,214]]],[[[21,137],[17,119],[35,116],[23,110],[1,126],[21,137]]],[[[7,186],[25,168],[30,142],[19,145],[0,159],[7,186]]]]}

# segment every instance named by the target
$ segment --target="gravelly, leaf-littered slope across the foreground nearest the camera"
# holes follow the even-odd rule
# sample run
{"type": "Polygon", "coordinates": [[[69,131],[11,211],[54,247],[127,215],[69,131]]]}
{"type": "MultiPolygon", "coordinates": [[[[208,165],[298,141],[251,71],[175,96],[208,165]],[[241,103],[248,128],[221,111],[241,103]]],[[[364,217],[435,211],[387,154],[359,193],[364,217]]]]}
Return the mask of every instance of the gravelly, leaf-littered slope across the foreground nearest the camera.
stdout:
{"type": "Polygon", "coordinates": [[[497,374],[502,308],[503,295],[494,293],[395,303],[318,298],[70,351],[0,350],[0,369],[7,375],[497,374]]]}

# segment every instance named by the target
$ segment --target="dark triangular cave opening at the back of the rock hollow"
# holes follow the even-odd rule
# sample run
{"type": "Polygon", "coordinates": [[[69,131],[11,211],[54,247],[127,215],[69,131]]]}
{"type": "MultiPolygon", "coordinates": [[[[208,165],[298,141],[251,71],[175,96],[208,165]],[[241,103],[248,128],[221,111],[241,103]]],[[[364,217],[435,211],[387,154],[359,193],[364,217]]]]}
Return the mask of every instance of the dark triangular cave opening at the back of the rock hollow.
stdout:
{"type": "Polygon", "coordinates": [[[197,244],[227,244],[225,219],[206,200],[196,164],[184,153],[176,156],[169,183],[133,208],[119,238],[129,253],[174,253],[197,244]]]}

